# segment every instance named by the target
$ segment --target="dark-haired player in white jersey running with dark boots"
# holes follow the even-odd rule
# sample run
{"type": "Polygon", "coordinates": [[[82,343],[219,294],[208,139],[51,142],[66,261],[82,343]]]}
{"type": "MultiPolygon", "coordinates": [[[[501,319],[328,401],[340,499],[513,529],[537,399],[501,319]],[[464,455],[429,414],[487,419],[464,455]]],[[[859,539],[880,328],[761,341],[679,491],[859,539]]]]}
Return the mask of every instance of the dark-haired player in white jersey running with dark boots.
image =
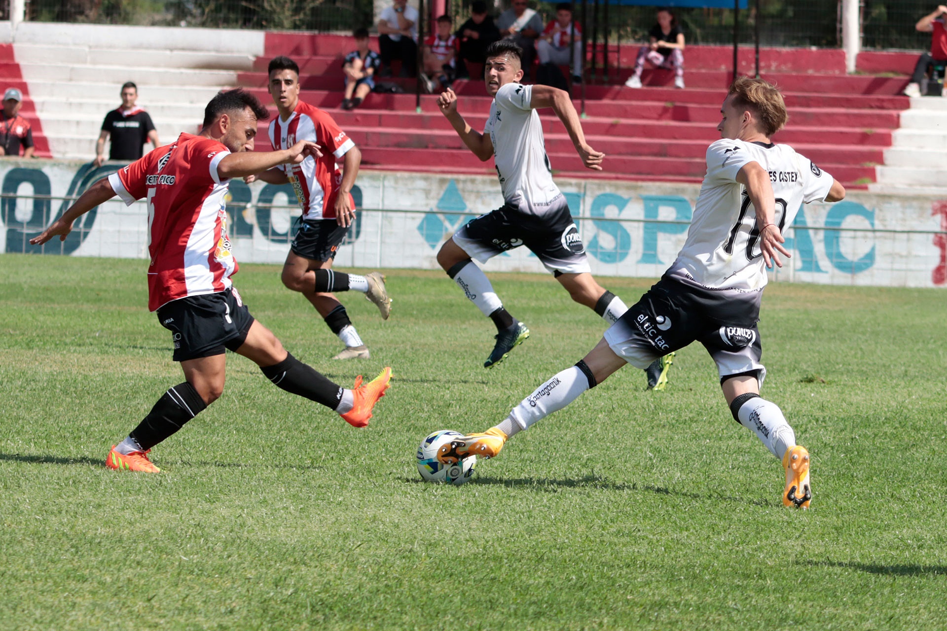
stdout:
{"type": "Polygon", "coordinates": [[[605,154],[585,142],[579,114],[568,93],[519,82],[523,79],[522,53],[510,40],[494,42],[487,48],[484,80],[493,103],[483,133],[474,131],[457,113],[453,90],[438,96],[441,113],[467,148],[484,162],[495,156],[503,190],[501,208],[469,221],[438,252],[440,267],[496,325],[496,344],[483,364],[485,368],[507,359],[509,351],[529,337],[529,329],[503,307],[490,280],[472,258],[486,263],[497,254],[525,245],[574,301],[595,309],[608,324],[615,323],[628,309],[590,272],[579,229],[563,193],[552,181],[543,124],[536,109],[552,108],[559,116],[585,167],[600,171],[605,154]]]}

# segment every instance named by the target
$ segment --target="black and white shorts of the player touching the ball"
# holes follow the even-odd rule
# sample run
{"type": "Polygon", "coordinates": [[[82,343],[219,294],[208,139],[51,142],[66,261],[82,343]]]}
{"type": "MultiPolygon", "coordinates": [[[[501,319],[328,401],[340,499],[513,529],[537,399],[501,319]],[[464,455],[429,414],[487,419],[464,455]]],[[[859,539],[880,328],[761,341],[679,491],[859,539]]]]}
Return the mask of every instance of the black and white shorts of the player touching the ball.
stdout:
{"type": "Polygon", "coordinates": [[[760,297],[759,292],[724,293],[665,277],[605,331],[605,342],[636,368],[701,342],[717,364],[721,381],[755,375],[762,385],[766,369],[759,363],[760,297]]]}

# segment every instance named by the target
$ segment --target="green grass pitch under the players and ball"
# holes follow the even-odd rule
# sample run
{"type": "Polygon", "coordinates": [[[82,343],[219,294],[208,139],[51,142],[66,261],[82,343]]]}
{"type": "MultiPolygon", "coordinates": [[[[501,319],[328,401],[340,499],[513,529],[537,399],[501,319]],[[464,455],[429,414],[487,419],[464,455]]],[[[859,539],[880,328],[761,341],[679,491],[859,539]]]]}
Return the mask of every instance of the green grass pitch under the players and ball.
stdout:
{"type": "MultiPolygon", "coordinates": [[[[700,346],[666,393],[619,372],[516,436],[473,482],[420,482],[435,429],[480,430],[598,342],[548,276],[493,274],[532,337],[492,371],[491,323],[440,272],[387,272],[371,348],[340,348],[275,266],[237,286],[296,357],[350,385],[391,365],[367,429],[228,357],[223,397],[104,466],[180,369],[145,262],[0,255],[0,629],[947,627],[944,293],[772,285],[776,401],[813,454],[813,510],[727,410],[700,346]]],[[[649,282],[600,279],[633,303],[649,282]]]]}

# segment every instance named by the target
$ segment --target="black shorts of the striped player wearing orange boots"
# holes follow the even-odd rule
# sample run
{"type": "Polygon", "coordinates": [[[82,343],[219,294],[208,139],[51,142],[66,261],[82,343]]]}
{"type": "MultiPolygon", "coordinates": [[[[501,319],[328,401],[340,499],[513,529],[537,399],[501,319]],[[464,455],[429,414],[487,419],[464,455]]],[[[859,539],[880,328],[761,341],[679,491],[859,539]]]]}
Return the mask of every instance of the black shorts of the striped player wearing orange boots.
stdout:
{"type": "Polygon", "coordinates": [[[158,322],[171,332],[175,361],[223,355],[241,347],[253,324],[237,289],[172,300],[157,310],[158,322]]]}

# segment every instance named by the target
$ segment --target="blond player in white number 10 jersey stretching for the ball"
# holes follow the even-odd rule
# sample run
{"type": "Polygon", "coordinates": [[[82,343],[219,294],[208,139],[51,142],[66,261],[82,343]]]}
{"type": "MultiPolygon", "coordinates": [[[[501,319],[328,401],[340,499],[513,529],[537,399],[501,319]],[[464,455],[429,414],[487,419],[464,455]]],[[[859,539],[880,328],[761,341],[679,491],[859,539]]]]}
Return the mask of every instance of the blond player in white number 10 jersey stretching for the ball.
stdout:
{"type": "Polygon", "coordinates": [[[770,141],[787,118],[782,95],[770,83],[735,80],[721,114],[723,140],[707,149],[688,238],[661,280],[592,352],[547,380],[499,425],[441,447],[440,462],[496,456],[510,436],[563,409],[626,363],[643,368],[701,342],[717,364],[733,417],[782,462],[783,503],[809,507],[809,452],[796,444],[778,406],[759,396],[766,376],[757,328],[767,281],[763,266],[782,267],[779,254],[790,255],[781,245],[782,230],[803,202],[838,202],[845,188],[788,145],[770,141]]]}

